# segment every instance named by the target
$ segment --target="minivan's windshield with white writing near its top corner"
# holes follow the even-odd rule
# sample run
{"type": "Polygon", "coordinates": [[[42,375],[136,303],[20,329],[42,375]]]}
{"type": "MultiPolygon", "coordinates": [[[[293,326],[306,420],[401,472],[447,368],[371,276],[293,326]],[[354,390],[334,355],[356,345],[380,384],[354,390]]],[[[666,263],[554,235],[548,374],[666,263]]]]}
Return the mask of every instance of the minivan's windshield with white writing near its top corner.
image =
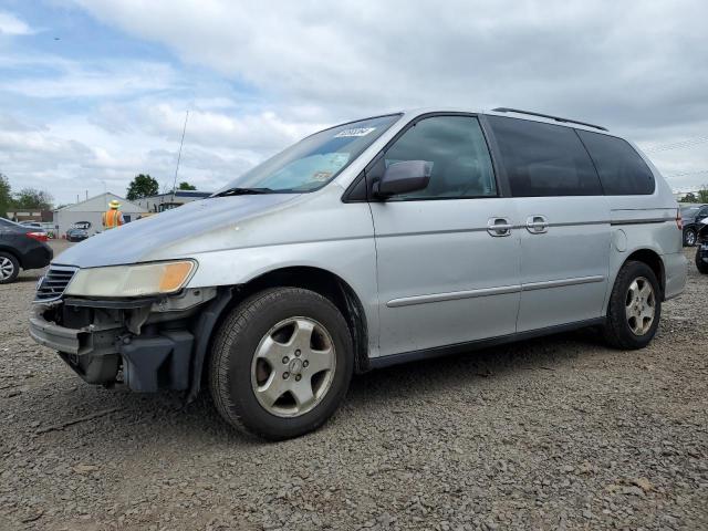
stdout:
{"type": "Polygon", "coordinates": [[[232,188],[270,194],[322,188],[399,117],[378,116],[315,133],[237,177],[216,195],[232,188]]]}

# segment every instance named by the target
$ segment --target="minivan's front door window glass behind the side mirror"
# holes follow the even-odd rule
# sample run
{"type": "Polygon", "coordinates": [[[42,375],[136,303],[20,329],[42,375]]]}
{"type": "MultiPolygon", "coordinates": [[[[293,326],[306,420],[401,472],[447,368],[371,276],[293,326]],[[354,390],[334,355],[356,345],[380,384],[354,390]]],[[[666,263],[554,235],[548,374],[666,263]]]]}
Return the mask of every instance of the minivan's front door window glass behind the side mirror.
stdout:
{"type": "Polygon", "coordinates": [[[394,200],[497,196],[491,158],[476,117],[421,119],[386,152],[377,164],[377,176],[392,164],[404,160],[430,163],[430,183],[425,190],[396,196],[394,200]]]}

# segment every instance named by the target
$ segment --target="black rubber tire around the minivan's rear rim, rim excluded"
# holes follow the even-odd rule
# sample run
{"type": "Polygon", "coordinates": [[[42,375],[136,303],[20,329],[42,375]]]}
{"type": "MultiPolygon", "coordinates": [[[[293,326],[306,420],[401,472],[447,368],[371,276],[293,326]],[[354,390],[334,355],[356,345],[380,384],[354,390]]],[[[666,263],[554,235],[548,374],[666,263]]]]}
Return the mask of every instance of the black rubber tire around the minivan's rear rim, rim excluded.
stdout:
{"type": "Polygon", "coordinates": [[[622,350],[644,348],[656,334],[662,317],[662,290],[652,268],[644,262],[626,262],[615,280],[610,295],[607,319],[603,326],[603,335],[611,346],[622,350]],[[642,335],[635,334],[629,327],[626,316],[626,299],[629,285],[638,278],[645,278],[654,290],[655,313],[649,329],[642,335]]]}

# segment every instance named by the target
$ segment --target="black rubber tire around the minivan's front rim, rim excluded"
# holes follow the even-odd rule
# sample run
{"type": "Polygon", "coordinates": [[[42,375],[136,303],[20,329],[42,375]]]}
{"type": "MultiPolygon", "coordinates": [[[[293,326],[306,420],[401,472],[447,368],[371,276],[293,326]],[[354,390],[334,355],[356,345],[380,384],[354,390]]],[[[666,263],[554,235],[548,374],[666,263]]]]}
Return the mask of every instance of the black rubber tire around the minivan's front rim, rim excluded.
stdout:
{"type": "Polygon", "coordinates": [[[208,371],[214,404],[231,426],[270,440],[298,437],[322,426],[344,400],[354,371],[352,336],[337,308],[324,296],[300,288],[273,288],[250,296],[227,315],[215,337],[208,371]],[[335,348],[335,369],[313,409],[280,417],[258,402],[251,363],[264,335],[294,316],[324,326],[335,348]]]}

